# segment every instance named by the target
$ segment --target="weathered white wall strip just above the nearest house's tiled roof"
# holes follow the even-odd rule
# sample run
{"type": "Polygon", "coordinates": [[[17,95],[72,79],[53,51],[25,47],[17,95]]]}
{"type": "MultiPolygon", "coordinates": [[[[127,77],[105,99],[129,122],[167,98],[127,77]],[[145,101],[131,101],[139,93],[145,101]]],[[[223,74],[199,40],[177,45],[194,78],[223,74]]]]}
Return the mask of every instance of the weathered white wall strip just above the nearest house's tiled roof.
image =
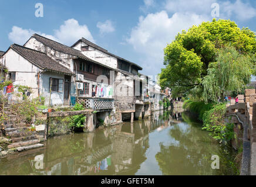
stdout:
{"type": "Polygon", "coordinates": [[[72,56],[70,54],[53,50],[50,47],[45,46],[35,38],[29,39],[28,42],[25,44],[25,47],[46,53],[50,58],[53,58],[54,60],[58,61],[59,64],[62,64],[63,66],[68,68],[70,71],[73,72],[74,70],[74,67],[73,67],[74,63],[73,63],[72,56]]]}

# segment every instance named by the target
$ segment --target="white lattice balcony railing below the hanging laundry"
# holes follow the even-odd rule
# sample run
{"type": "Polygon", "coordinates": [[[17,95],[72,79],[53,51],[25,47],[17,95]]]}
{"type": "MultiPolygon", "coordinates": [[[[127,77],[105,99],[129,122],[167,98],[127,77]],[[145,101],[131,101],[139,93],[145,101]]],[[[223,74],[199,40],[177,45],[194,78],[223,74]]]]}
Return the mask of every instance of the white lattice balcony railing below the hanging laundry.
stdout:
{"type": "Polygon", "coordinates": [[[79,98],[80,103],[84,103],[85,108],[93,110],[105,110],[114,108],[112,98],[79,98]]]}

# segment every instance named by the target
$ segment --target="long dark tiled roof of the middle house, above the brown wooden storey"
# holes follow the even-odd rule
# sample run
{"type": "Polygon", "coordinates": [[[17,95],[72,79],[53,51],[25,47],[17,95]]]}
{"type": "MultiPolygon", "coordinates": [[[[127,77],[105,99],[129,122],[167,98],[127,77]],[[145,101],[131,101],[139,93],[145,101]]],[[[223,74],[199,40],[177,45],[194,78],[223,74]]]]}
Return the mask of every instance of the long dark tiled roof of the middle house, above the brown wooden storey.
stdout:
{"type": "Polygon", "coordinates": [[[83,60],[90,61],[91,63],[99,64],[103,67],[109,68],[110,70],[113,70],[113,68],[108,67],[107,65],[103,65],[97,61],[94,61],[86,56],[84,56],[79,50],[73,49],[72,47],[65,46],[64,44],[61,44],[57,41],[50,40],[46,37],[40,36],[38,34],[33,34],[33,38],[43,43],[45,46],[48,46],[56,51],[60,51],[62,53],[70,54],[72,56],[75,56],[77,58],[82,58],[83,60]]]}

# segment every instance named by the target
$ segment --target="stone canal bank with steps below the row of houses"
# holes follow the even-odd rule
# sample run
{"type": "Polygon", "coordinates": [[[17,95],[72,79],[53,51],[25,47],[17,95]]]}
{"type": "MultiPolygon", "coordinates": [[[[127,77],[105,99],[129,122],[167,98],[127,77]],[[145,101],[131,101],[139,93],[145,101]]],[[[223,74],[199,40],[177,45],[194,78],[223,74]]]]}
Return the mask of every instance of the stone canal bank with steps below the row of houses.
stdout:
{"type": "MultiPolygon", "coordinates": [[[[182,105],[181,103],[178,103],[174,106],[175,108],[179,108],[182,105]]],[[[169,108],[163,108],[163,106],[154,107],[151,103],[146,103],[145,105],[137,107],[137,110],[135,111],[129,111],[129,113],[122,113],[122,111],[115,110],[115,108],[111,111],[95,111],[92,109],[86,109],[81,111],[42,113],[41,120],[44,120],[46,123],[35,126],[35,130],[32,131],[31,134],[24,135],[20,132],[19,134],[15,134],[15,137],[1,138],[1,145],[5,144],[5,146],[1,146],[0,157],[5,157],[5,155],[8,154],[15,154],[17,151],[21,152],[24,150],[42,147],[43,144],[41,144],[41,142],[46,141],[48,137],[72,133],[69,126],[69,119],[75,115],[85,115],[86,120],[83,132],[92,132],[98,127],[102,129],[107,126],[114,126],[116,124],[123,123],[122,118],[125,115],[126,119],[133,123],[134,120],[142,120],[151,117],[153,113],[157,111],[170,109],[171,106],[169,108]],[[99,121],[101,124],[99,124],[99,121]]],[[[13,128],[12,130],[15,131],[16,129],[13,128]]]]}

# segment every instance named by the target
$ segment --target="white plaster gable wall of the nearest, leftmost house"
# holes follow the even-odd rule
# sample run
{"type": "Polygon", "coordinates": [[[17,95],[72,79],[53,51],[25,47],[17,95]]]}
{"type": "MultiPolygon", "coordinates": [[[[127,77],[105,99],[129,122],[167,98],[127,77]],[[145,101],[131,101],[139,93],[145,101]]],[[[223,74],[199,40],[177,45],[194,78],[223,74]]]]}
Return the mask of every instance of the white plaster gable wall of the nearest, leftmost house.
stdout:
{"type": "Polygon", "coordinates": [[[9,49],[9,51],[5,53],[4,58],[4,63],[8,71],[16,72],[14,85],[26,85],[31,87],[31,96],[32,98],[36,98],[38,96],[36,75],[40,69],[12,49],[9,49]]]}

